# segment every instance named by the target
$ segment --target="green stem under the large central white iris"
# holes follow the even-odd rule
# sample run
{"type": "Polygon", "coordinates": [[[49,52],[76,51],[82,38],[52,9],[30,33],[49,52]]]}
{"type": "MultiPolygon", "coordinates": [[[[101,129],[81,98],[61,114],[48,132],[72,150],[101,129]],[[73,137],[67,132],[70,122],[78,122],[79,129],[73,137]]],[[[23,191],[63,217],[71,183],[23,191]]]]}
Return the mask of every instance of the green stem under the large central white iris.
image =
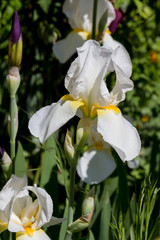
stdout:
{"type": "MultiPolygon", "coordinates": [[[[67,225],[70,225],[73,222],[75,175],[76,175],[76,166],[73,166],[70,169],[69,209],[68,209],[67,225]]],[[[67,232],[65,240],[70,240],[71,237],[72,237],[72,233],[67,232]]]]}

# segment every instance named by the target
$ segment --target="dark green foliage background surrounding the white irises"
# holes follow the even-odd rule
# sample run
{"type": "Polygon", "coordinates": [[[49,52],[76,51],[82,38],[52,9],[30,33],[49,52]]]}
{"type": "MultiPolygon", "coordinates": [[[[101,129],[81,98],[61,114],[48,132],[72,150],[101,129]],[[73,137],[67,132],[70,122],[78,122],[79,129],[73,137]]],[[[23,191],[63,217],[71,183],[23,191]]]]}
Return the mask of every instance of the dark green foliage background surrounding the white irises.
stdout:
{"type": "MultiPolygon", "coordinates": [[[[0,145],[9,152],[9,94],[6,87],[8,37],[12,15],[17,10],[24,47],[21,85],[17,93],[19,143],[16,174],[22,176],[27,169],[30,183],[37,183],[51,194],[54,216],[57,217],[63,215],[68,192],[69,167],[63,152],[64,136],[67,127],[74,134],[77,119],[62,127],[44,146],[40,146],[38,140],[30,135],[27,125],[37,109],[56,102],[66,94],[64,77],[76,55],[62,65],[52,52],[55,41],[64,38],[71,30],[62,13],[62,5],[63,1],[60,0],[2,0],[0,3],[0,145]]],[[[120,108],[137,127],[142,149],[137,157],[139,166],[135,169],[128,168],[115,156],[118,164],[116,171],[96,186],[96,210],[90,230],[75,234],[73,239],[156,239],[160,237],[157,230],[160,223],[159,195],[154,203],[149,199],[155,197],[152,191],[155,180],[157,186],[160,185],[160,1],[117,0],[114,5],[121,7],[125,17],[113,38],[121,42],[130,54],[135,85],[120,108]],[[142,206],[141,199],[144,199],[142,206]],[[147,202],[150,206],[155,204],[148,227],[145,221],[145,214],[149,214],[147,202]],[[145,232],[146,228],[148,233],[145,232]]],[[[110,88],[115,82],[114,77],[112,74],[108,77],[110,88]]],[[[78,177],[76,180],[75,203],[81,206],[89,186],[84,185],[78,177]]],[[[3,177],[0,178],[0,184],[4,185],[3,177]]],[[[75,219],[80,216],[80,211],[78,207],[75,219]]],[[[65,223],[62,226],[59,240],[63,239],[65,223]]],[[[47,233],[52,238],[58,236],[59,229],[60,226],[49,228],[47,233]]]]}

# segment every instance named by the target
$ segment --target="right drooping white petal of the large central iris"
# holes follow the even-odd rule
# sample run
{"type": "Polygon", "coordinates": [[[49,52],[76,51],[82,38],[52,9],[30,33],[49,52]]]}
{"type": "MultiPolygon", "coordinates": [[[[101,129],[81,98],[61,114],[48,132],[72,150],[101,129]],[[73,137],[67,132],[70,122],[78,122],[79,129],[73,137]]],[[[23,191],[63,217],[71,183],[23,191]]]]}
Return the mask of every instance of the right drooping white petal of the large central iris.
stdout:
{"type": "Polygon", "coordinates": [[[98,110],[97,131],[118,153],[123,161],[135,158],[141,147],[135,127],[121,113],[114,110],[98,110]]]}

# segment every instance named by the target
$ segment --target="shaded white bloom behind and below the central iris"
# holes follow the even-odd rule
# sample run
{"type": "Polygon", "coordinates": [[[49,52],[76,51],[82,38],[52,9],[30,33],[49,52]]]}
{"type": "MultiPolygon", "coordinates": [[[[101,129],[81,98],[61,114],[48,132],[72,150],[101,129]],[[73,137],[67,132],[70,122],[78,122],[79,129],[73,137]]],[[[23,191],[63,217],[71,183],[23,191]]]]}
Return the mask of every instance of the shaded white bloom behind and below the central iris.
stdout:
{"type": "Polygon", "coordinates": [[[110,146],[94,129],[91,131],[89,148],[77,164],[77,173],[88,184],[97,184],[107,178],[116,168],[110,146]]]}

